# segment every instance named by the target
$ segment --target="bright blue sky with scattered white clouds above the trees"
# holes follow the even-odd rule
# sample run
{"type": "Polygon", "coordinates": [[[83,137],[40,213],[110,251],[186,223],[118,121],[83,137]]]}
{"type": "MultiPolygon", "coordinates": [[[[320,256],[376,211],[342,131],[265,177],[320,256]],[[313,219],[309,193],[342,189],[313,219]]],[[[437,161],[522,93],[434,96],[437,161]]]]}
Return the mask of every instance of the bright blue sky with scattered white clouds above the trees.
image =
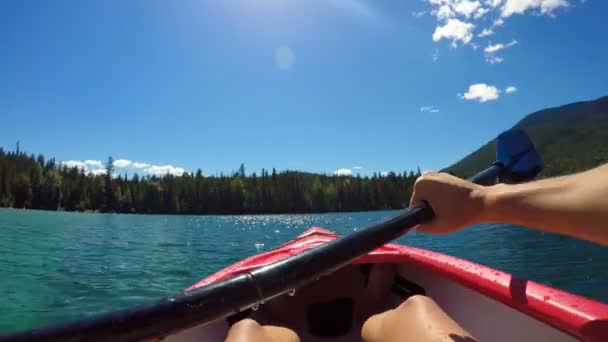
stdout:
{"type": "Polygon", "coordinates": [[[605,13],[599,0],[3,1],[0,146],[88,170],[112,155],[140,174],[439,169],[534,110],[607,95],[605,13]]]}

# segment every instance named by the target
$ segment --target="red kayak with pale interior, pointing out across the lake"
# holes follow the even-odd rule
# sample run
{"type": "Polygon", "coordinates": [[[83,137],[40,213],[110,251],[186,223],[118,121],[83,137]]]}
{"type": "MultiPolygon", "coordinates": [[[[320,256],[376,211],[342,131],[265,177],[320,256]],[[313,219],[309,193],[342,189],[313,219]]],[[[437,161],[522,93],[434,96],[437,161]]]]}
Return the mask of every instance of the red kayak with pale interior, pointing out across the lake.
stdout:
{"type": "MultiPolygon", "coordinates": [[[[252,271],[338,238],[310,228],[296,239],[231,265],[187,291],[252,271]]],[[[481,341],[608,341],[608,305],[424,249],[387,244],[331,275],[238,317],[199,325],[168,341],[221,341],[229,324],[251,317],[288,326],[303,341],[360,341],[367,317],[407,297],[433,298],[481,341]]]]}

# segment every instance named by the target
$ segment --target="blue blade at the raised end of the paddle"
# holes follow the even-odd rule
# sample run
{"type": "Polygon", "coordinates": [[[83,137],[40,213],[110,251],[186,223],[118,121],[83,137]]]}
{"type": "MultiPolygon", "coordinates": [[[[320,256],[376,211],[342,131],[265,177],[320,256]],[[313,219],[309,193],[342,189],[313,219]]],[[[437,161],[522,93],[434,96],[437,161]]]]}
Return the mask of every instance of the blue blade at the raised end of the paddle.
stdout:
{"type": "Polygon", "coordinates": [[[543,161],[528,135],[520,129],[501,133],[496,139],[496,162],[504,166],[501,182],[525,182],[543,169],[543,161]]]}

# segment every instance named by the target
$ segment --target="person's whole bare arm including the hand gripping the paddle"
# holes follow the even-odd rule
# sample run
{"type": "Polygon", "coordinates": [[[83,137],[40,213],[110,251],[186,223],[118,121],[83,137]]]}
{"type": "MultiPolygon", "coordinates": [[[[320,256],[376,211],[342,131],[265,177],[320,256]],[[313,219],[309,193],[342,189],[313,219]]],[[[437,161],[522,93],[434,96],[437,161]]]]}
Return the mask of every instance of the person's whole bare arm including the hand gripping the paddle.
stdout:
{"type": "Polygon", "coordinates": [[[424,232],[504,222],[608,245],[608,164],[570,176],[489,187],[426,173],[416,181],[411,203],[421,200],[436,214],[418,228],[424,232]]]}

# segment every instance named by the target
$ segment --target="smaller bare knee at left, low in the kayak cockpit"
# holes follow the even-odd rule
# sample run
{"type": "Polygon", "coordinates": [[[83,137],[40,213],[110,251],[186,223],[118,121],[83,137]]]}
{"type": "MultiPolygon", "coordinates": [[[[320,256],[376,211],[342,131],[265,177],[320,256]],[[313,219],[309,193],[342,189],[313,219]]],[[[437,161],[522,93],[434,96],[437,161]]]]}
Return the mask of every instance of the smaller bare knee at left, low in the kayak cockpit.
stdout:
{"type": "Polygon", "coordinates": [[[298,335],[290,329],[271,325],[260,325],[252,319],[238,321],[230,327],[226,342],[300,342],[298,335]]]}

